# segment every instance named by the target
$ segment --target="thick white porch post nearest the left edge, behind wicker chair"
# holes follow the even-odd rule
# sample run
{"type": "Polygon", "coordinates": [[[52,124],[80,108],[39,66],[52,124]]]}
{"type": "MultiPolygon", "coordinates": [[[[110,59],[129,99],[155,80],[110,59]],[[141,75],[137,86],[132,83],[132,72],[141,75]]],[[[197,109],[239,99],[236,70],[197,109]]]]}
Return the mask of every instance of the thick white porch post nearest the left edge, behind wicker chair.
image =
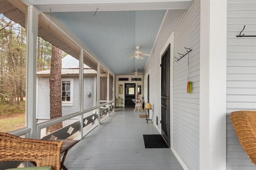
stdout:
{"type": "MultiPolygon", "coordinates": [[[[26,22],[27,57],[26,57],[26,127],[31,128],[30,138],[36,139],[36,55],[38,36],[38,10],[28,7],[26,22]]],[[[39,133],[39,132],[38,132],[39,133]]]]}

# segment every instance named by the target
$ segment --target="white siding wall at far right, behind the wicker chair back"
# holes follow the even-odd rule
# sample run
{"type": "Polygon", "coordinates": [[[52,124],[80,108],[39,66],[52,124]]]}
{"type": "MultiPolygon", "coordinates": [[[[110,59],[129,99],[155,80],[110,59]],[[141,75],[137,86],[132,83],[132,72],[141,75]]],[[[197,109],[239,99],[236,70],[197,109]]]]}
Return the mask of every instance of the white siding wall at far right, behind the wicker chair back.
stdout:
{"type": "Polygon", "coordinates": [[[227,12],[227,170],[255,170],[242,149],[229,115],[256,110],[256,0],[228,0],[227,12]]]}

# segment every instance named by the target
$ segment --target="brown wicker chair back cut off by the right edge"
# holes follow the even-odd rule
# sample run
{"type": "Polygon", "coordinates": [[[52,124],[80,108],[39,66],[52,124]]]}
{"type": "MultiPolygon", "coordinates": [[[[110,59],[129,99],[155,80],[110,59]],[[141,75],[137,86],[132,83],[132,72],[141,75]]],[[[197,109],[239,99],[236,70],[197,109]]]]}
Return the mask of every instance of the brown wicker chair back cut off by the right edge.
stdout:
{"type": "Polygon", "coordinates": [[[233,111],[230,119],[242,148],[256,165],[256,111],[233,111]]]}

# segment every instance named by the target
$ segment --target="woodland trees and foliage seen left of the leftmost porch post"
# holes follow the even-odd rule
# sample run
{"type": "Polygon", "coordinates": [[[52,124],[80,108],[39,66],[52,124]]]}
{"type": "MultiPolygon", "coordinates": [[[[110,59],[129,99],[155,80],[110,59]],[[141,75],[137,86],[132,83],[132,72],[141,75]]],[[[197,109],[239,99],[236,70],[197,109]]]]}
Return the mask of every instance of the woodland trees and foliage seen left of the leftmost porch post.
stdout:
{"type": "Polygon", "coordinates": [[[9,100],[12,104],[15,97],[23,94],[26,84],[25,74],[26,31],[19,24],[0,14],[1,101],[9,100]]]}

